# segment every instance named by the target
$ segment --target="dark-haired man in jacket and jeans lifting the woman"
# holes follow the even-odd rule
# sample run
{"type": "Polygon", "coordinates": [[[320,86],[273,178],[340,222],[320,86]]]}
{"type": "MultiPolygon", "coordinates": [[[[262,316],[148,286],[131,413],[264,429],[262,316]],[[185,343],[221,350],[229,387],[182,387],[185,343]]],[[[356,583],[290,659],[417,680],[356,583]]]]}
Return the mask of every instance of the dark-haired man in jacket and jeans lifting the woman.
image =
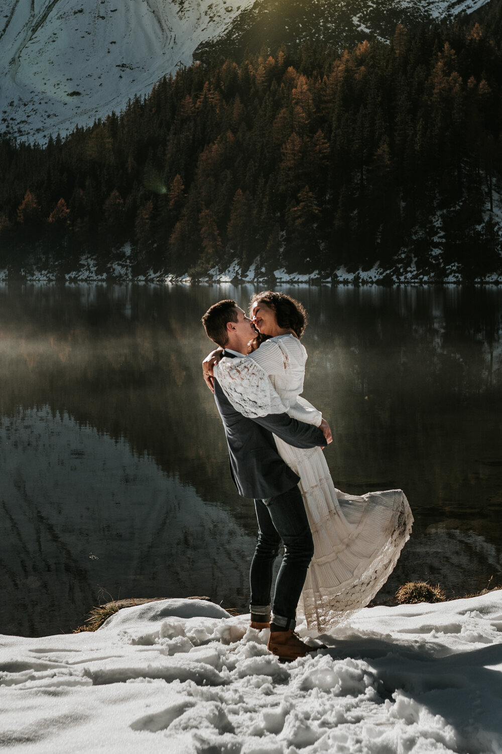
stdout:
{"type": "MultiPolygon", "coordinates": [[[[202,317],[208,337],[224,348],[228,358],[247,353],[256,331],[232,299],[211,306],[202,317]]],[[[230,455],[230,471],[239,492],[254,498],[258,541],[251,562],[251,627],[270,628],[269,650],[282,660],[304,657],[312,648],[294,633],[296,610],[314,552],[300,478],[278,455],[272,432],[298,448],[325,446],[331,442],[330,428],[307,425],[287,413],[247,418],[233,408],[218,379],[209,385],[223,421],[230,455]],[[325,434],[323,434],[323,432],[325,434]],[[272,566],[278,547],[284,544],[284,557],[275,581],[272,605],[272,566]]]]}

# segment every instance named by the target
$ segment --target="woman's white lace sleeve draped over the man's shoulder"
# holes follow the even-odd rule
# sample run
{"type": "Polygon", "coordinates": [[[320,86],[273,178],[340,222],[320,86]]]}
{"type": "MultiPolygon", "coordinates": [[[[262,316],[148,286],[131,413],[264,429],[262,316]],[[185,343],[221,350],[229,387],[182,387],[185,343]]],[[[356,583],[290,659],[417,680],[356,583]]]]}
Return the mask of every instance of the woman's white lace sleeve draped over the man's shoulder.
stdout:
{"type": "Polygon", "coordinates": [[[288,406],[272,387],[266,372],[249,357],[223,358],[214,367],[214,376],[234,409],[248,418],[283,414],[288,406]]]}

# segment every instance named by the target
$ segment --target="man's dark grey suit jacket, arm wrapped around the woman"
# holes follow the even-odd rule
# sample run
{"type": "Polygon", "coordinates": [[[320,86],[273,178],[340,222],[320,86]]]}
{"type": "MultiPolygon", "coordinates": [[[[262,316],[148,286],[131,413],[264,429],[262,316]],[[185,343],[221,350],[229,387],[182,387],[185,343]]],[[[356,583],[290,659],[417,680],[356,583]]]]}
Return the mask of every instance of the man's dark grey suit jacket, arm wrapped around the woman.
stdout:
{"type": "MultiPolygon", "coordinates": [[[[225,355],[233,358],[233,354],[225,355]]],[[[214,400],[227,435],[230,473],[242,497],[266,500],[287,492],[300,481],[278,454],[272,432],[297,448],[326,445],[318,427],[286,413],[254,419],[243,416],[233,408],[216,379],[214,400]]]]}

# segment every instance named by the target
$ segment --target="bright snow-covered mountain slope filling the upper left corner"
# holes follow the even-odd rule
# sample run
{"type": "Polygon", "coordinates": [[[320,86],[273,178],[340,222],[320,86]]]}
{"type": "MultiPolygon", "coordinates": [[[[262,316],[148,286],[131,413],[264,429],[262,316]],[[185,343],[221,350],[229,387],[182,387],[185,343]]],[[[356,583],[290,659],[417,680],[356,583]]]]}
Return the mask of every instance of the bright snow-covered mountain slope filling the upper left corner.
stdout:
{"type": "Polygon", "coordinates": [[[3,0],[2,128],[44,141],[143,95],[192,62],[249,0],[3,0]]]}

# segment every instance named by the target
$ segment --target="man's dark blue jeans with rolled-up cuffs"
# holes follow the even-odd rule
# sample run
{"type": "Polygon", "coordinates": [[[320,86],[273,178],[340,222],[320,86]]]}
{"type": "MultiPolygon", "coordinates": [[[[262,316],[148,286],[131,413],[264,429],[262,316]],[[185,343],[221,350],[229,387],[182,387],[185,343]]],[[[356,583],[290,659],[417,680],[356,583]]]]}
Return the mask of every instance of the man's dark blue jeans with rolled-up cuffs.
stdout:
{"type": "Polygon", "coordinates": [[[275,581],[272,618],[279,626],[294,628],[298,600],[314,554],[302,495],[295,486],[275,498],[255,500],[254,507],[258,541],[249,572],[251,612],[263,621],[269,620],[272,569],[282,541],[285,551],[275,581]]]}

